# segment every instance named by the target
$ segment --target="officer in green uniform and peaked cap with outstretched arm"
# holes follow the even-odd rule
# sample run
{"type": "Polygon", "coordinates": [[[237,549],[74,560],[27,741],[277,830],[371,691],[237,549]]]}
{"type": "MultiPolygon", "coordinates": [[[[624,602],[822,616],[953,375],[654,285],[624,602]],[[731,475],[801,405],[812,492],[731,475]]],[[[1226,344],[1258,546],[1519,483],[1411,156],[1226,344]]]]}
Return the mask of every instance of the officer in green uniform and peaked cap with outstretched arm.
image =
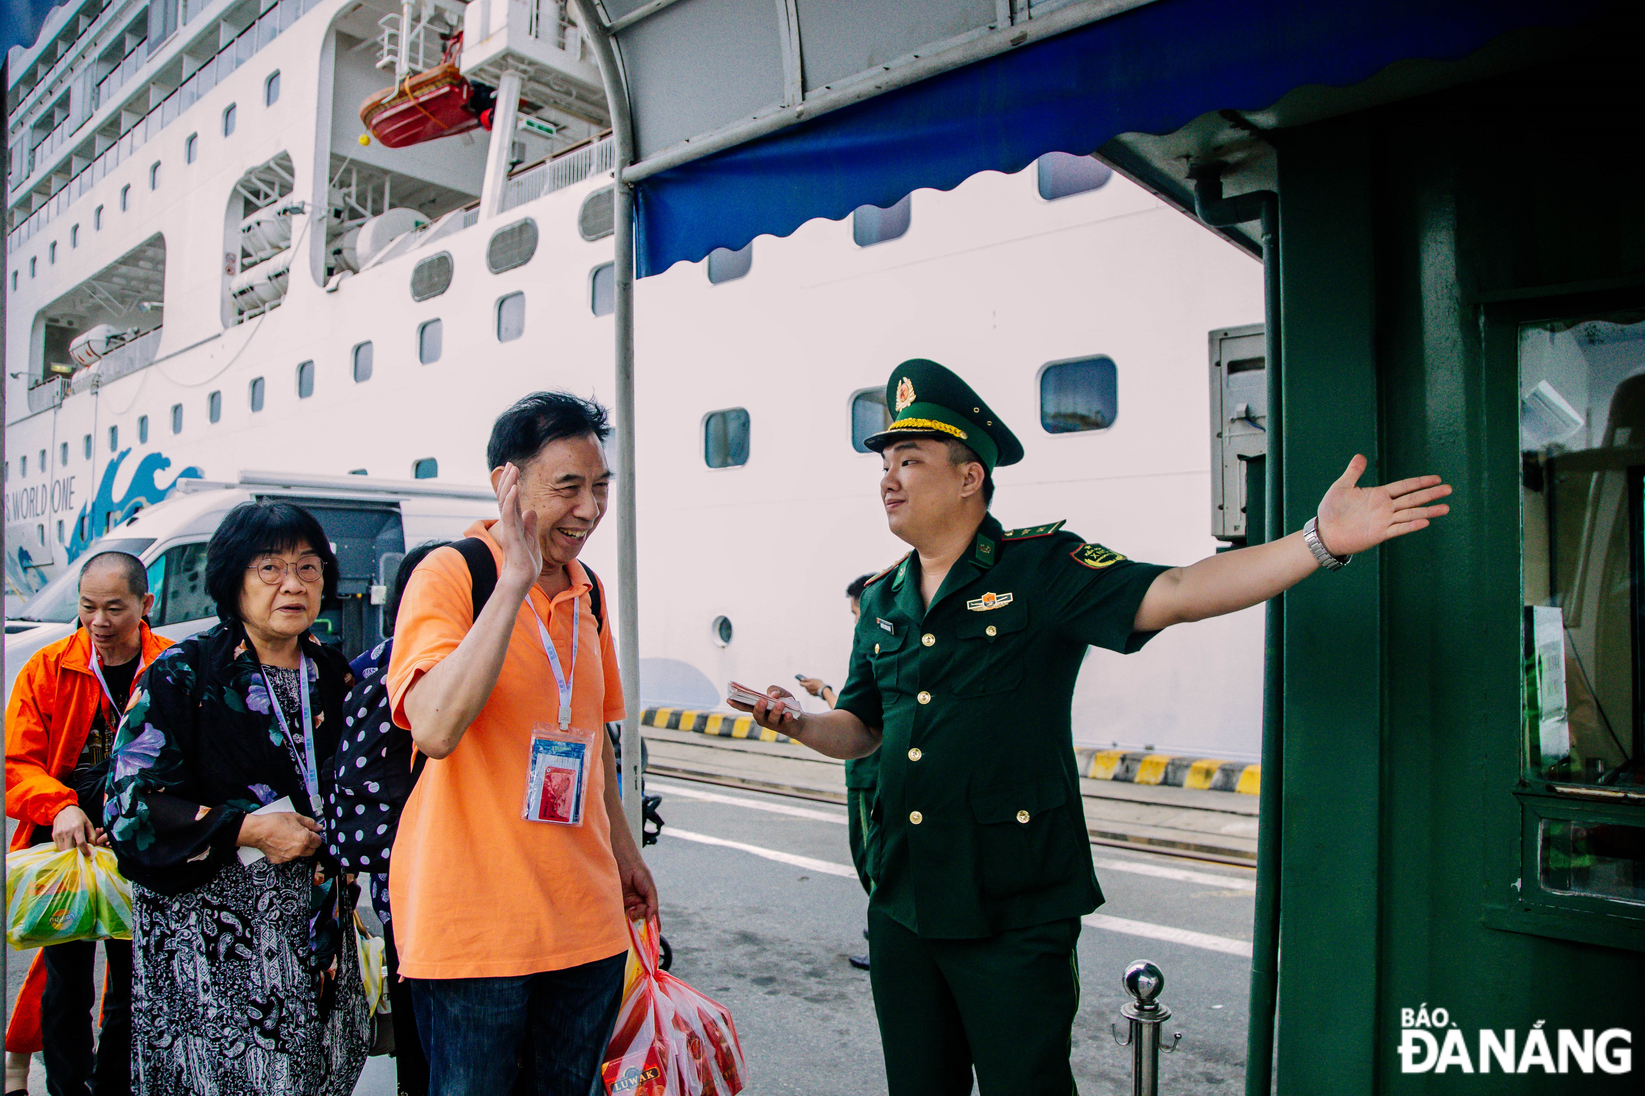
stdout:
{"type": "Polygon", "coordinates": [[[867,444],[913,550],[864,590],[832,711],[739,707],[832,758],[880,753],[869,942],[892,1096],[957,1096],[974,1073],[982,1096],[1068,1096],[1074,943],[1102,902],[1069,726],[1086,647],[1133,652],[1170,624],[1260,605],[1425,527],[1451,488],[1360,488],[1354,457],[1303,531],[1156,567],[1063,523],[1002,529],[992,473],[1023,447],[949,370],[905,361],[885,403],[893,421],[867,444]]]}

